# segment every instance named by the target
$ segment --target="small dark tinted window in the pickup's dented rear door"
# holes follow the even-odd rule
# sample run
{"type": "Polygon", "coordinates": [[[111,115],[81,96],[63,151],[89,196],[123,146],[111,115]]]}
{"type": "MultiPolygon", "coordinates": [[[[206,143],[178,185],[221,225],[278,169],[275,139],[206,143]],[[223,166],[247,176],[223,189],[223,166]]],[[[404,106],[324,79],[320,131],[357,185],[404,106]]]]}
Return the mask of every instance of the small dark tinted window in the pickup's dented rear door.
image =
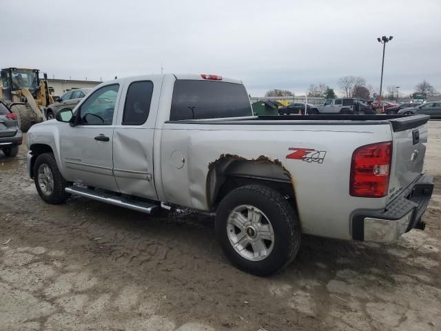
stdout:
{"type": "Polygon", "coordinates": [[[147,121],[152,94],[152,81],[136,81],[130,84],[125,97],[123,126],[141,126],[147,121]]]}

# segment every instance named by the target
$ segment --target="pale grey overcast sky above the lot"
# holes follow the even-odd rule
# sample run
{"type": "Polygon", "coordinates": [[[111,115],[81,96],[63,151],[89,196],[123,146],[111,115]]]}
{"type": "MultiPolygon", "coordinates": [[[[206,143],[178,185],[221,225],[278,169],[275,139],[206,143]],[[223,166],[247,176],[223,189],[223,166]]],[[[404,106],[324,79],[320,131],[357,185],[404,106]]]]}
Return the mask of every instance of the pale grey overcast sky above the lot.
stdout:
{"type": "Polygon", "coordinates": [[[2,68],[61,79],[161,72],[242,79],[253,96],[339,77],[441,91],[441,1],[2,1],[2,68]]]}

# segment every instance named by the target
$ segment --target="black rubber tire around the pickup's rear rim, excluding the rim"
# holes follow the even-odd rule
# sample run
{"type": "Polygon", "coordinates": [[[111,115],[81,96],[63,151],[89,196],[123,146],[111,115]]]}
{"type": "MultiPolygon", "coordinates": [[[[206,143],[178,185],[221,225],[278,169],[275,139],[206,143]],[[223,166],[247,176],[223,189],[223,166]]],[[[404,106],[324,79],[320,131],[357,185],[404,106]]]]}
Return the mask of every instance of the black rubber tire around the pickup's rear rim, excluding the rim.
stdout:
{"type": "Polygon", "coordinates": [[[282,194],[264,185],[247,185],[229,192],[216,212],[216,239],[237,268],[258,276],[274,274],[296,257],[300,247],[300,225],[294,209],[282,194]],[[229,214],[240,205],[261,210],[271,223],[274,245],[265,259],[252,261],[242,257],[230,243],[227,233],[229,214]]]}

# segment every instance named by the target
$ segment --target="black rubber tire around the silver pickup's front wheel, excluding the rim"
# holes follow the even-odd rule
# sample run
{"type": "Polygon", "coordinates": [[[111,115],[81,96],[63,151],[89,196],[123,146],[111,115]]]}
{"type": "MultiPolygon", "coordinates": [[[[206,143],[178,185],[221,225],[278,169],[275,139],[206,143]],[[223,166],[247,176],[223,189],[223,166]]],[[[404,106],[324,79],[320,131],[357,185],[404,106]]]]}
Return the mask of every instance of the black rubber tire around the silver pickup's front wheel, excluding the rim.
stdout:
{"type": "Polygon", "coordinates": [[[35,160],[34,163],[34,183],[37,188],[37,192],[39,192],[39,196],[46,203],[50,203],[52,205],[58,205],[60,203],[64,203],[69,199],[70,194],[65,192],[66,186],[68,186],[68,182],[65,181],[61,172],[58,169],[57,161],[55,161],[54,154],[52,153],[44,153],[40,154],[35,160]],[[52,177],[54,179],[54,187],[50,194],[45,194],[39,185],[39,168],[41,165],[48,165],[50,171],[52,172],[52,177]]]}

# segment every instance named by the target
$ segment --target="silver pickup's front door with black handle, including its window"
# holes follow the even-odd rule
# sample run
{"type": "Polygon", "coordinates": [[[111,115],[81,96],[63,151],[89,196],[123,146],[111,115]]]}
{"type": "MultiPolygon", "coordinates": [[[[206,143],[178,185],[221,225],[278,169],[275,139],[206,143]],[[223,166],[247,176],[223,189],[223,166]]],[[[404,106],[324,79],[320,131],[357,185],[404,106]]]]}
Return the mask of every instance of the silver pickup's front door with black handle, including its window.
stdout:
{"type": "Polygon", "coordinates": [[[112,143],[118,83],[92,92],[75,110],[76,126],[60,130],[61,161],[68,181],[118,192],[113,176],[112,143]]]}

